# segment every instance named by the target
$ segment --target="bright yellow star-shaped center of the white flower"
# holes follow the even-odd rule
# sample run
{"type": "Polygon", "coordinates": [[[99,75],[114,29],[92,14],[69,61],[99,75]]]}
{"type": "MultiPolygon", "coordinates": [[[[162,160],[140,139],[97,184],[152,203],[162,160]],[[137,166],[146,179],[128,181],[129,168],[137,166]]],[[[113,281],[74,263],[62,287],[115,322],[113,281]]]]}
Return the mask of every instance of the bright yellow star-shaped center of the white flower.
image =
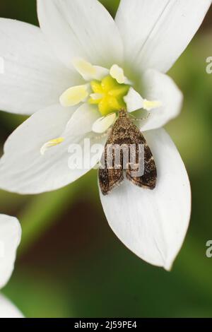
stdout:
{"type": "Polygon", "coordinates": [[[88,102],[98,105],[102,116],[126,108],[124,97],[129,91],[129,85],[120,84],[111,76],[106,76],[102,81],[91,81],[90,86],[93,93],[88,102]]]}

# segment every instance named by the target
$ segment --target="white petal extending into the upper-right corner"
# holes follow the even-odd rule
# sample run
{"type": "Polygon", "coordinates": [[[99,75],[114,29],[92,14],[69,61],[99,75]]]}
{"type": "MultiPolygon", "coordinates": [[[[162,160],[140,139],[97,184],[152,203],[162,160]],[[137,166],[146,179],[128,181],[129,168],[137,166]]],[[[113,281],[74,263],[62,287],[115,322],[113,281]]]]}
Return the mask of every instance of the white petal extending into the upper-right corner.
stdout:
{"type": "Polygon", "coordinates": [[[211,0],[121,0],[115,19],[126,59],[167,72],[199,29],[211,0]]]}

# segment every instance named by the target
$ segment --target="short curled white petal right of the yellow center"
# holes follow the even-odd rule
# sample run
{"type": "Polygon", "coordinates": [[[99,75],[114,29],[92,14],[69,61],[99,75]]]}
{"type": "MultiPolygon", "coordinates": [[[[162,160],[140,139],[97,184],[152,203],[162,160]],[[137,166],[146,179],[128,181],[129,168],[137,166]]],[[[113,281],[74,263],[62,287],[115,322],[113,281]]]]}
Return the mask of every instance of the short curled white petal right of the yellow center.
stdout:
{"type": "Polygon", "coordinates": [[[179,115],[183,95],[172,78],[149,69],[143,75],[143,85],[146,88],[146,99],[158,100],[161,106],[152,109],[148,118],[141,122],[142,131],[163,127],[179,115]]]}

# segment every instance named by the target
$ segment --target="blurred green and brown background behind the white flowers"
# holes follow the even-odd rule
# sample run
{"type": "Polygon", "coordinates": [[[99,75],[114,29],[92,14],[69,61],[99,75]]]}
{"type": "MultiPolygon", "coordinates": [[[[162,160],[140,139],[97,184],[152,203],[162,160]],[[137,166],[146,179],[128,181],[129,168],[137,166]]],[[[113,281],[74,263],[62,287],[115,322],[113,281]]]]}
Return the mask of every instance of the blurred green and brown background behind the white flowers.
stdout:
{"type": "MultiPolygon", "coordinates": [[[[112,15],[119,0],[103,4],[112,15]]],[[[0,16],[37,25],[35,0],[1,0],[0,16]]],[[[0,191],[1,213],[17,215],[23,238],[3,292],[27,317],[211,317],[212,10],[170,72],[184,93],[182,114],[167,126],[192,183],[192,220],[171,273],[134,256],[102,212],[97,173],[40,196],[0,191]]],[[[18,102],[18,100],[17,100],[18,102]]],[[[0,112],[0,146],[23,121],[0,112]]]]}

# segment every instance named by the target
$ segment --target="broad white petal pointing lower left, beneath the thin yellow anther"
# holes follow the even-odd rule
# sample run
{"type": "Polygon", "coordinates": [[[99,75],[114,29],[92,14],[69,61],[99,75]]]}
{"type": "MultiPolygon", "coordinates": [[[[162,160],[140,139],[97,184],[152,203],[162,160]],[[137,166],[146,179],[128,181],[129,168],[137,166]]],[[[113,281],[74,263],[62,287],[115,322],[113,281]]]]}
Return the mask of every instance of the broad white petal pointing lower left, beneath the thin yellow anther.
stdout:
{"type": "MultiPolygon", "coordinates": [[[[73,143],[83,146],[82,136],[72,136],[70,132],[69,136],[64,137],[63,143],[49,148],[45,155],[40,153],[43,144],[61,137],[72,112],[72,109],[60,105],[42,109],[13,132],[0,160],[1,189],[20,194],[38,194],[66,186],[88,172],[89,167],[81,167],[79,170],[69,168],[69,146],[73,143]]],[[[81,117],[78,121],[83,127],[81,117]]],[[[97,134],[90,135],[90,146],[101,142],[104,144],[105,138],[97,134]]],[[[95,166],[99,158],[97,155],[95,160],[93,155],[90,168],[95,166]]],[[[83,160],[89,157],[90,150],[86,150],[83,160]]]]}

